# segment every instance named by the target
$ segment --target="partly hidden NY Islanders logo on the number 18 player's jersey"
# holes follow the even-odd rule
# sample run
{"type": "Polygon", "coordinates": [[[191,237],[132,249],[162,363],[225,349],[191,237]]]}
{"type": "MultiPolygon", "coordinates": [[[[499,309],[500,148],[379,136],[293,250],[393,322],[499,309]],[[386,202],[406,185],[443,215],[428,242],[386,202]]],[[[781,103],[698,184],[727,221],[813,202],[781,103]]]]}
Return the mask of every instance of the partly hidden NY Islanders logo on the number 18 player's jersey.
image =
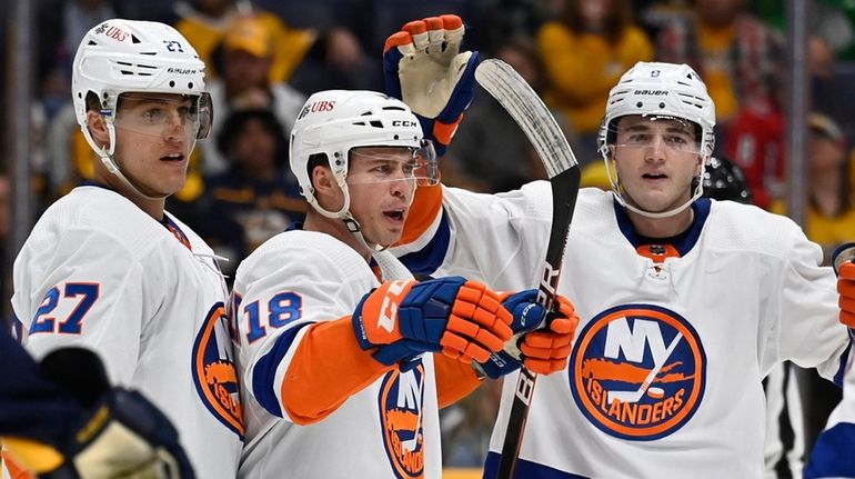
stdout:
{"type": "Polygon", "coordinates": [[[424,476],[424,365],[389,372],[380,387],[383,445],[398,479],[424,476]]]}

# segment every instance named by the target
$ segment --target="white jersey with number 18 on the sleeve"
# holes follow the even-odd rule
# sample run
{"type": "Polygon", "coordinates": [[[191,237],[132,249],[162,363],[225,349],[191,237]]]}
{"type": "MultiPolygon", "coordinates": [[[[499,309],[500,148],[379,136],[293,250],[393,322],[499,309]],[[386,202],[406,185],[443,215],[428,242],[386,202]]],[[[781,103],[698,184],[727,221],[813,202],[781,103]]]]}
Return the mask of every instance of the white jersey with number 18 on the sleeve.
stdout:
{"type": "MultiPolygon", "coordinates": [[[[412,279],[389,252],[374,255],[384,280],[412,279]]],[[[440,478],[439,409],[432,355],[398,368],[321,421],[299,426],[282,383],[305,326],[353,313],[380,286],[369,263],[333,237],[293,230],[241,262],[234,282],[238,369],[247,411],[240,478],[440,478]]]]}

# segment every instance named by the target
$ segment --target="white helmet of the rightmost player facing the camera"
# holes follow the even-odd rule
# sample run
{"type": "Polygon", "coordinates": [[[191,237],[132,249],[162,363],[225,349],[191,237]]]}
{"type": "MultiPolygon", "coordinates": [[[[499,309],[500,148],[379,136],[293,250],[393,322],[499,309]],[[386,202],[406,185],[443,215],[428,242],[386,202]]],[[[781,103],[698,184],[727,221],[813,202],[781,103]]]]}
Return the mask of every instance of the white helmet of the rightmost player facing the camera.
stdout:
{"type": "MultiPolygon", "coordinates": [[[[638,114],[642,117],[674,119],[687,121],[695,127],[698,153],[702,158],[702,168],[713,154],[715,137],[715,104],[706,91],[701,77],[687,64],[644,62],[635,63],[627,70],[617,84],[608,92],[608,101],[605,107],[605,116],[600,126],[597,148],[606,164],[612,190],[621,204],[640,214],[651,218],[673,216],[686,207],[703,193],[701,181],[696,182],[695,191],[685,204],[661,213],[643,211],[627,204],[621,188],[616,172],[613,173],[611,164],[611,146],[616,137],[616,124],[621,117],[638,114]]],[[[703,176],[703,170],[701,171],[703,176]]]]}

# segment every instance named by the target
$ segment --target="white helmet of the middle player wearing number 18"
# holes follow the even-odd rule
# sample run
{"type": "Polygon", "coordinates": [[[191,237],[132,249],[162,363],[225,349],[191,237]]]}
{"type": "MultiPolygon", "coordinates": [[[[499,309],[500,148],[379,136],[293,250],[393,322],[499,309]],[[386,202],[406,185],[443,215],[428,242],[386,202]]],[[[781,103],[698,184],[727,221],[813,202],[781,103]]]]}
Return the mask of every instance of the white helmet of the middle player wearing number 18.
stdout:
{"type": "Polygon", "coordinates": [[[375,91],[326,90],[306,100],[291,129],[289,157],[291,171],[300,183],[300,193],[321,214],[352,224],[350,193],[346,186],[349,153],[358,147],[404,147],[414,152],[426,150],[435,156],[430,141],[423,140],[419,119],[401,100],[375,91]],[[308,167],[310,158],[323,154],[344,192],[344,204],[329,211],[318,203],[308,167]]]}

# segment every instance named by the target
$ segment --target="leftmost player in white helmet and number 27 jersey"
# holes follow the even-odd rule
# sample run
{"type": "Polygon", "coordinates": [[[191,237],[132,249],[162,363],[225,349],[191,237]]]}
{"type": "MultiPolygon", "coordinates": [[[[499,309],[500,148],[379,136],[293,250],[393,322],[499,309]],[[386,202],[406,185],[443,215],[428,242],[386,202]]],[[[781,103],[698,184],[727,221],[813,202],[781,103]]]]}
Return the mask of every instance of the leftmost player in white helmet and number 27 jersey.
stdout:
{"type": "Polygon", "coordinates": [[[111,383],[141,391],[179,432],[194,470],[234,477],[243,418],[211,249],[164,211],[211,110],[204,64],[174,29],[108,20],[74,57],[78,122],[94,181],[53,203],[14,262],[28,350],[95,351],[111,383]]]}

